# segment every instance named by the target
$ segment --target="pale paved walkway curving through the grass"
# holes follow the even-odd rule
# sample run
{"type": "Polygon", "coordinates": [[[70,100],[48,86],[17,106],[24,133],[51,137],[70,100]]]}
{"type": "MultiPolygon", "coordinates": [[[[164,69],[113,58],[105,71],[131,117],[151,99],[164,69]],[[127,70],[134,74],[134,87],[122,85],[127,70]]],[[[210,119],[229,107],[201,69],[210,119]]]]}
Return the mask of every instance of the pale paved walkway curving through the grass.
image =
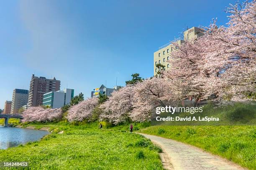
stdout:
{"type": "Polygon", "coordinates": [[[233,162],[197,147],[154,135],[141,135],[162,148],[171,160],[174,170],[244,170],[233,162]]]}

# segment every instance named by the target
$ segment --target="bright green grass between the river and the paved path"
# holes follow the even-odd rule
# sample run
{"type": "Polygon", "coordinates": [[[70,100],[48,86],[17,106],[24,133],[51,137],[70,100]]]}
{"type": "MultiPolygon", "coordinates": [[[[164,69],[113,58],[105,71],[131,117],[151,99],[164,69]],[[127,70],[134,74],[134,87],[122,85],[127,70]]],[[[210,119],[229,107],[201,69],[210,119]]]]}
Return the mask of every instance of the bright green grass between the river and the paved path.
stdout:
{"type": "Polygon", "coordinates": [[[163,169],[158,154],[161,149],[146,138],[94,127],[55,127],[39,142],[0,150],[0,162],[28,162],[27,169],[36,170],[163,169]],[[64,134],[57,133],[61,130],[64,134]]]}

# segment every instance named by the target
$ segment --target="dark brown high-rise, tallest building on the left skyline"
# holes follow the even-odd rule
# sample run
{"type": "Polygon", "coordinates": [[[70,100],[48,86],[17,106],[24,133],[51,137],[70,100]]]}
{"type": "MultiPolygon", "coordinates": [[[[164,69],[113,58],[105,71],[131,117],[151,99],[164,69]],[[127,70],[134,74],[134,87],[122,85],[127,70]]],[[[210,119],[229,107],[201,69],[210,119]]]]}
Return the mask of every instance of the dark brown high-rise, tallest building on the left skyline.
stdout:
{"type": "Polygon", "coordinates": [[[30,89],[28,95],[28,108],[32,106],[40,106],[43,104],[44,94],[50,91],[58,91],[60,89],[60,81],[46,79],[45,77],[31,77],[30,89]]]}

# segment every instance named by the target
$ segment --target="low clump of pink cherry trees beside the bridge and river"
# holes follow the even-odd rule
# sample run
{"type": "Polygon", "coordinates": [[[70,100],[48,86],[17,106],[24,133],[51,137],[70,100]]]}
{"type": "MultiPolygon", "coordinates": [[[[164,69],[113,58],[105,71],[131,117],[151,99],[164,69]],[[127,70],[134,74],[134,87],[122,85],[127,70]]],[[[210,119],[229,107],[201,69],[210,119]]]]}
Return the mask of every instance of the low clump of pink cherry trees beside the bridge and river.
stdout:
{"type": "Polygon", "coordinates": [[[62,117],[61,109],[44,109],[31,107],[23,112],[22,122],[45,122],[59,120],[62,117]]]}

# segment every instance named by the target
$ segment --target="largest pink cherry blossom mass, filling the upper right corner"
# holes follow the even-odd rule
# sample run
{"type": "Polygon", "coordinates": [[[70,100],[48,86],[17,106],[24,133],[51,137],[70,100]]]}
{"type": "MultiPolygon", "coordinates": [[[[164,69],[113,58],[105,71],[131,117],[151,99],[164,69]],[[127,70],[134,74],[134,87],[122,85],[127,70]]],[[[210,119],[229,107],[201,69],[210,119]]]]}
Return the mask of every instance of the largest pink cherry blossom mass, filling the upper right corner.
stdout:
{"type": "Polygon", "coordinates": [[[163,72],[172,96],[244,100],[256,95],[256,1],[230,5],[227,12],[228,27],[214,20],[204,36],[174,43],[178,48],[171,53],[171,69],[163,72]]]}

